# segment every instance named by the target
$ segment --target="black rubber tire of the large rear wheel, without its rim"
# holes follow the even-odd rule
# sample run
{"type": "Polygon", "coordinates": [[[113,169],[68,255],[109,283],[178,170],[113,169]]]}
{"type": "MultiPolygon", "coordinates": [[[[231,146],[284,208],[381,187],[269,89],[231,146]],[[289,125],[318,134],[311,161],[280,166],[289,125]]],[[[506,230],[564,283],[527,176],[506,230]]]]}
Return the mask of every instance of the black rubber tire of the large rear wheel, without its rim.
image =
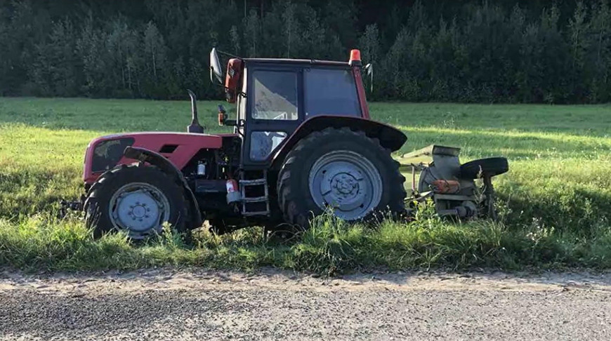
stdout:
{"type": "Polygon", "coordinates": [[[314,215],[323,213],[323,209],[315,203],[310,192],[310,170],[321,156],[334,151],[358,154],[369,160],[379,173],[379,202],[367,215],[357,220],[371,220],[379,212],[405,211],[405,178],[399,171],[400,163],[390,156],[390,150],[383,148],[378,139],[369,138],[362,131],[327,128],[303,138],[284,160],[278,175],[277,193],[280,210],[286,222],[308,228],[309,220],[314,215]]]}

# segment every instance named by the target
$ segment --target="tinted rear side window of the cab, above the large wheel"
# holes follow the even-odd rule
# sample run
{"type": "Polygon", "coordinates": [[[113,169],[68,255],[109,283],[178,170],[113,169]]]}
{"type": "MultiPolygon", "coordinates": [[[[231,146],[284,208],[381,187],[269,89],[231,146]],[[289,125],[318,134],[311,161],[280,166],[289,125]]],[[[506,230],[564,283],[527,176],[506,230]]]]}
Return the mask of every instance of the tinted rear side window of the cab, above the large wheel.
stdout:
{"type": "Polygon", "coordinates": [[[361,116],[354,75],[349,69],[306,69],[306,116],[361,116]]]}

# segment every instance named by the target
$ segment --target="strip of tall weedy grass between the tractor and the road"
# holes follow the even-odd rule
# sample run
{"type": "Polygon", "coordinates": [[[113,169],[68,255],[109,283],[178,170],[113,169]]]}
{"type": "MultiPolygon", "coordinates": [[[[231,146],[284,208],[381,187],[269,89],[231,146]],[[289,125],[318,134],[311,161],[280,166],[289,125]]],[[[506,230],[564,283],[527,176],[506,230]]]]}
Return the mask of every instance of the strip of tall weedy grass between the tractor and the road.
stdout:
{"type": "Polygon", "coordinates": [[[341,274],[370,269],[563,268],[611,266],[611,232],[589,239],[559,236],[532,225],[508,229],[479,221],[448,223],[431,212],[412,222],[384,220],[374,227],[348,225],[332,215],[290,241],[265,239],[261,229],[224,236],[196,231],[185,243],[171,228],[134,245],[122,234],[93,239],[78,218],[32,216],[0,220],[0,264],[25,270],[138,269],[203,266],[213,269],[283,269],[341,274]]]}

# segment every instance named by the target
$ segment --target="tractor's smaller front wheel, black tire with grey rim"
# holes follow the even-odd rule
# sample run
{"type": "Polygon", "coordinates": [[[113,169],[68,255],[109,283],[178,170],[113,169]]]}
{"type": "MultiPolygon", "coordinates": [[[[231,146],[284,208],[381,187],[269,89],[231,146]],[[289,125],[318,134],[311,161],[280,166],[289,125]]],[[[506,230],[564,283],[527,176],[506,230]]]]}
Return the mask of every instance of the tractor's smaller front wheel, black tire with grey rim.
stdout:
{"type": "Polygon", "coordinates": [[[144,165],[121,165],[101,175],[84,210],[96,238],[123,231],[131,239],[145,239],[162,232],[166,222],[183,232],[188,217],[183,188],[159,168],[144,165]]]}

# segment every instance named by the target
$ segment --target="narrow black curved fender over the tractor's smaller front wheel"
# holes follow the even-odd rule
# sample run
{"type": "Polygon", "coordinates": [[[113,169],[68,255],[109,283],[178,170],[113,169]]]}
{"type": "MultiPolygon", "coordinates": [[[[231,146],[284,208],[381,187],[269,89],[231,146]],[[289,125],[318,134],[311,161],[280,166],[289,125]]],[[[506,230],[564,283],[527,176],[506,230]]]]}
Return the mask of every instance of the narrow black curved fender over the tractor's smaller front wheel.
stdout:
{"type": "Polygon", "coordinates": [[[167,173],[173,178],[176,178],[178,182],[183,184],[187,200],[189,201],[189,211],[191,215],[192,224],[194,227],[202,226],[202,213],[199,212],[199,206],[197,205],[197,199],[195,199],[195,194],[193,194],[193,191],[190,189],[187,180],[183,176],[183,173],[181,173],[180,170],[176,168],[173,163],[171,163],[171,161],[166,159],[162,154],[139,147],[126,147],[125,151],[123,152],[123,155],[129,159],[147,162],[152,164],[153,166],[157,166],[159,167],[159,169],[164,171],[164,173],[167,173]]]}

